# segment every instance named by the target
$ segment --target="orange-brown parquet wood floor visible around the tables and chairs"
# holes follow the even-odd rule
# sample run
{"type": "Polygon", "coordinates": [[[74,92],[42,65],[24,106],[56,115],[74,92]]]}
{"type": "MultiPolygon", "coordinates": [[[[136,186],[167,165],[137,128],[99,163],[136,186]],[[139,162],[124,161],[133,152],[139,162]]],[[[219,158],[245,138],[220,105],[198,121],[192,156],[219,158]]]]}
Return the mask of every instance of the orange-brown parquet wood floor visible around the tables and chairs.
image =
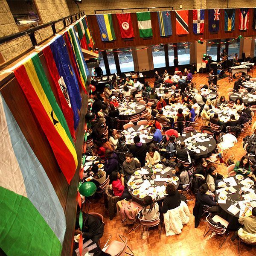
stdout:
{"type": "MultiPolygon", "coordinates": [[[[194,75],[194,80],[197,87],[200,84],[207,83],[206,74],[196,74],[194,75]]],[[[153,84],[154,79],[148,79],[150,84],[153,84]]],[[[233,82],[228,81],[227,78],[218,81],[220,95],[224,95],[227,99],[227,89],[233,87],[233,82]]],[[[253,120],[253,122],[256,118],[253,120]]],[[[244,137],[244,136],[242,136],[244,137]]],[[[235,161],[239,160],[244,155],[244,149],[242,148],[242,138],[239,138],[238,143],[236,143],[233,148],[235,153],[235,161]]],[[[230,151],[230,155],[231,155],[230,151]]],[[[222,164],[217,167],[218,172],[226,175],[226,166],[222,164]]],[[[189,201],[188,206],[191,212],[191,217],[189,224],[183,227],[182,233],[180,235],[168,236],[166,237],[164,229],[162,229],[162,236],[159,239],[157,228],[152,228],[148,231],[148,236],[145,233],[143,239],[140,238],[140,228],[132,231],[130,234],[128,232],[131,230],[130,226],[124,226],[121,223],[120,217],[116,216],[112,221],[109,220],[102,199],[96,199],[92,202],[89,212],[99,212],[104,217],[105,231],[112,234],[112,239],[118,240],[118,235],[122,234],[128,237],[128,246],[133,250],[136,256],[233,256],[238,255],[237,241],[232,242],[230,237],[233,232],[230,232],[225,244],[221,249],[219,249],[220,237],[208,236],[203,237],[204,229],[206,227],[205,222],[201,222],[198,228],[194,228],[194,216],[192,215],[192,209],[194,207],[194,201],[189,201]]],[[[101,246],[105,244],[108,236],[104,234],[101,242],[101,246]]],[[[255,256],[256,248],[249,247],[242,244],[241,253],[242,256],[255,256]]]]}

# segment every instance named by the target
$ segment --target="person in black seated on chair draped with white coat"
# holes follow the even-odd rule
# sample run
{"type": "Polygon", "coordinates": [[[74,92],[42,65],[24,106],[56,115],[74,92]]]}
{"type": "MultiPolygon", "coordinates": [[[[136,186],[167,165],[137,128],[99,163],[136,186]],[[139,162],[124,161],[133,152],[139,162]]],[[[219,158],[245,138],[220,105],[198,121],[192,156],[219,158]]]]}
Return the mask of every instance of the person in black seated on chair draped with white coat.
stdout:
{"type": "Polygon", "coordinates": [[[159,212],[166,213],[168,210],[175,209],[180,206],[180,193],[170,183],[166,186],[166,197],[163,199],[163,206],[159,207],[159,212]]]}

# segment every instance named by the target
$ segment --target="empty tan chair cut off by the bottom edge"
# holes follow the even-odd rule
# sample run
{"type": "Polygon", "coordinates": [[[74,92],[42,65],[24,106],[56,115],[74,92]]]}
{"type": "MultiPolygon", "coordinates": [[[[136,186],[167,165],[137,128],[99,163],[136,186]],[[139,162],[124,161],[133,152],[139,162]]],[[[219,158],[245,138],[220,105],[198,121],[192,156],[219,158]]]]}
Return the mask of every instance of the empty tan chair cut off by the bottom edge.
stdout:
{"type": "Polygon", "coordinates": [[[108,246],[106,246],[107,244],[105,244],[102,250],[105,253],[109,253],[111,256],[123,256],[126,253],[126,248],[128,248],[132,254],[131,253],[126,253],[126,254],[134,256],[133,251],[127,245],[128,238],[122,235],[119,235],[119,238],[122,240],[122,242],[113,240],[108,246]]]}

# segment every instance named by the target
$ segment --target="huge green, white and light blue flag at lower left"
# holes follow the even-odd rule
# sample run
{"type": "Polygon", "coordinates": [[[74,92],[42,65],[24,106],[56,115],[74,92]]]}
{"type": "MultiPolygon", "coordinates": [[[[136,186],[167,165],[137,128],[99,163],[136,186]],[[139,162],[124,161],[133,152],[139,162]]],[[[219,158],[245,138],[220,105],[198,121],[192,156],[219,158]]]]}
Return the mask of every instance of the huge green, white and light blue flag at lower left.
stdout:
{"type": "Polygon", "coordinates": [[[0,115],[1,249],[6,255],[61,255],[63,208],[1,94],[0,115]]]}

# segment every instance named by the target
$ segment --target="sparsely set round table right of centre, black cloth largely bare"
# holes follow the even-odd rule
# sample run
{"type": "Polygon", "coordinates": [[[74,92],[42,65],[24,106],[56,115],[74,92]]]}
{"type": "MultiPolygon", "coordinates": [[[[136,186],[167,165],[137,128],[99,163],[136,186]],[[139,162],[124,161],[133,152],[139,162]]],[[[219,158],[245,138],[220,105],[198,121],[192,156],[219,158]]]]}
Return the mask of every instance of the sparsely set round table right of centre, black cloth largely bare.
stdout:
{"type": "MultiPolygon", "coordinates": [[[[177,139],[176,139],[176,148],[179,149],[180,148],[180,143],[182,141],[188,139],[189,137],[192,137],[192,135],[195,135],[195,134],[202,134],[202,133],[189,132],[189,133],[183,134],[185,136],[177,137],[177,139]]],[[[199,138],[201,138],[201,137],[199,137],[199,138]]],[[[204,157],[204,156],[209,156],[210,154],[212,154],[212,151],[216,148],[216,145],[217,145],[216,141],[211,135],[207,134],[207,136],[205,136],[205,138],[209,138],[210,141],[197,142],[197,141],[194,140],[195,147],[198,148],[199,145],[202,145],[202,146],[205,146],[207,149],[203,151],[200,148],[198,148],[198,149],[200,149],[200,153],[193,154],[192,155],[193,158],[200,158],[200,157],[204,157]]],[[[186,143],[186,145],[187,144],[188,143],[186,143]]],[[[190,149],[190,150],[194,151],[193,149],[190,149]]]]}

